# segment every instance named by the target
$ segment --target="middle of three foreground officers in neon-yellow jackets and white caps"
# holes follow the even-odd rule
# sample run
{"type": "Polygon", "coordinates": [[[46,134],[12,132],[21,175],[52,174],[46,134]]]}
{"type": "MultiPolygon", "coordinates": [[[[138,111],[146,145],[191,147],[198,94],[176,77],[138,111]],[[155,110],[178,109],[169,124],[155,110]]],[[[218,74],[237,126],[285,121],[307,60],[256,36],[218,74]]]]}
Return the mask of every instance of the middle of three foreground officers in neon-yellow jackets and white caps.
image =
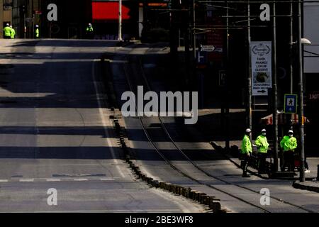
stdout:
{"type": "Polygon", "coordinates": [[[254,140],[254,144],[257,145],[258,151],[258,173],[262,174],[265,173],[266,157],[269,147],[269,143],[266,137],[266,129],[262,129],[262,134],[259,135],[256,140],[254,140]]]}

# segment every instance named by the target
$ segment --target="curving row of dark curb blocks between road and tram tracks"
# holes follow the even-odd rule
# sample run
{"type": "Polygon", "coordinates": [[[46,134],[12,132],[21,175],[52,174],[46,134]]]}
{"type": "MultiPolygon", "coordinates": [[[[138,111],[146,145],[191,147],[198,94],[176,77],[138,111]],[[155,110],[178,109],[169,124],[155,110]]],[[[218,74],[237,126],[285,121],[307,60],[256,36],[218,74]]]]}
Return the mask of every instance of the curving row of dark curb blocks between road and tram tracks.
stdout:
{"type": "MultiPolygon", "coordinates": [[[[102,59],[102,62],[105,62],[105,61],[103,61],[102,59]]],[[[106,72],[106,71],[104,70],[103,72],[106,72]]],[[[110,91],[113,91],[112,82],[108,81],[107,86],[108,86],[107,90],[109,93],[110,91]]],[[[116,101],[115,94],[114,93],[108,94],[108,97],[111,99],[110,100],[111,106],[116,106],[117,101],[116,101]]],[[[114,109],[115,107],[111,107],[111,111],[114,112],[114,115],[110,116],[110,120],[113,122],[113,128],[116,131],[116,135],[118,138],[118,144],[121,145],[121,148],[124,152],[125,162],[128,163],[130,169],[135,173],[138,179],[142,179],[142,181],[147,182],[147,184],[150,184],[152,187],[164,189],[165,191],[172,192],[175,195],[184,196],[187,199],[198,201],[198,203],[208,206],[213,211],[213,213],[225,213],[225,211],[221,209],[220,199],[216,199],[215,196],[208,196],[205,193],[192,190],[190,187],[186,188],[177,184],[170,184],[167,182],[157,181],[155,179],[152,179],[152,177],[147,177],[147,175],[145,175],[140,170],[140,167],[138,165],[135,165],[132,162],[132,160],[130,160],[130,151],[129,151],[128,145],[125,142],[125,138],[128,138],[128,136],[125,133],[125,128],[122,128],[120,123],[118,123],[118,120],[122,118],[122,116],[116,116],[114,109]]]]}

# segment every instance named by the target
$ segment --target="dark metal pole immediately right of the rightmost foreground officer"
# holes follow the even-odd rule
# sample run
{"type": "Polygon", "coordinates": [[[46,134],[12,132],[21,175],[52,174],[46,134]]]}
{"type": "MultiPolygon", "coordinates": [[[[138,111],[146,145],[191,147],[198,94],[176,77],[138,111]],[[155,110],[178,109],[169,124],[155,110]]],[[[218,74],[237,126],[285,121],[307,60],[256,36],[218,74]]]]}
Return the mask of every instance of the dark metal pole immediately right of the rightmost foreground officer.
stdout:
{"type": "Polygon", "coordinates": [[[301,148],[300,181],[305,181],[305,147],[303,134],[303,53],[301,47],[301,2],[298,2],[298,65],[299,65],[299,105],[298,121],[301,148]]]}

